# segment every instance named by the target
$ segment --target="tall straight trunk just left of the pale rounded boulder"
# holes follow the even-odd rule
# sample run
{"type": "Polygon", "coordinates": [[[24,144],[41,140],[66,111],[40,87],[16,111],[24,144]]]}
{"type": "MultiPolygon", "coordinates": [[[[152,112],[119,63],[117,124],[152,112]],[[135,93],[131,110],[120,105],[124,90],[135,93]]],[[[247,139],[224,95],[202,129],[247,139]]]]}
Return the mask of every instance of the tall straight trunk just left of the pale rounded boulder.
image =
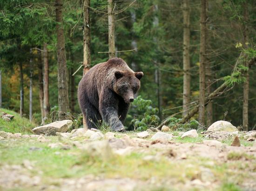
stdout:
{"type": "Polygon", "coordinates": [[[201,22],[200,22],[200,86],[199,86],[199,123],[204,125],[204,111],[205,111],[205,39],[206,39],[206,2],[201,0],[201,22]]]}

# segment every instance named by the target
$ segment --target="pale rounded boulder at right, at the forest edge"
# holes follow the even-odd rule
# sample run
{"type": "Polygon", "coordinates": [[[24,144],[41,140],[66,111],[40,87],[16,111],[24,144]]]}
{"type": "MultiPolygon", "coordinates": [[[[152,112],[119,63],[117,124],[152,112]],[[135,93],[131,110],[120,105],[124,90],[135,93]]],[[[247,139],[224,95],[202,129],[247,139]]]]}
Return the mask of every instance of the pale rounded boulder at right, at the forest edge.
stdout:
{"type": "Polygon", "coordinates": [[[229,121],[216,121],[207,129],[207,131],[216,132],[216,131],[238,131],[238,129],[233,126],[229,121]]]}

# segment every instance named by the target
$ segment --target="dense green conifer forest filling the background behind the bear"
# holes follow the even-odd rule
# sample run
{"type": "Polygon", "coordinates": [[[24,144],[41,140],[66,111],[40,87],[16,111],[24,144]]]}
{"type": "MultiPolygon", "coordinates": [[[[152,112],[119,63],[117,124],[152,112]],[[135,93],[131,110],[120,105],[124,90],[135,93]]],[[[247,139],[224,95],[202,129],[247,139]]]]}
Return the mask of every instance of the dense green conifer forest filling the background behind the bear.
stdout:
{"type": "Polygon", "coordinates": [[[37,124],[81,118],[77,86],[83,73],[121,57],[144,72],[125,123],[129,129],[191,120],[208,127],[225,119],[253,130],[255,5],[254,0],[1,1],[0,107],[37,124]]]}

